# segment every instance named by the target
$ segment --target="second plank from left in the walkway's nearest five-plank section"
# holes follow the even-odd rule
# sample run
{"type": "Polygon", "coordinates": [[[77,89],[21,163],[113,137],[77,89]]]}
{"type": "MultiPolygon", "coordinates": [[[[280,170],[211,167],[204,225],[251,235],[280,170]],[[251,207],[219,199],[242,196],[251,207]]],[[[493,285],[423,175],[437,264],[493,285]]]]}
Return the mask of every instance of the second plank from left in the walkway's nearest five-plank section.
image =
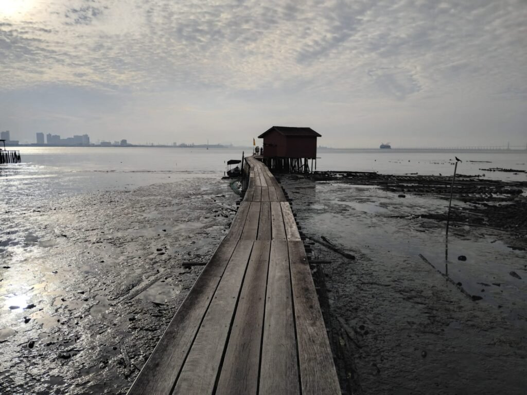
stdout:
{"type": "Polygon", "coordinates": [[[181,370],[174,394],[213,392],[252,244],[249,240],[238,242],[181,370]]]}

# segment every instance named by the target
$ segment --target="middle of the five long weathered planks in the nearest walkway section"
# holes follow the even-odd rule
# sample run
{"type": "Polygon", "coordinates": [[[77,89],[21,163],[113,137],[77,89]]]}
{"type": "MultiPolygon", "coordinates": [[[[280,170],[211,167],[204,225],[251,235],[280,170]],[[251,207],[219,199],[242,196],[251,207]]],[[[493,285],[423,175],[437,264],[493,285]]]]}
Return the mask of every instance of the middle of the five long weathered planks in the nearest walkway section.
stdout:
{"type": "Polygon", "coordinates": [[[255,241],[252,248],[216,395],[257,393],[270,247],[255,241]]]}

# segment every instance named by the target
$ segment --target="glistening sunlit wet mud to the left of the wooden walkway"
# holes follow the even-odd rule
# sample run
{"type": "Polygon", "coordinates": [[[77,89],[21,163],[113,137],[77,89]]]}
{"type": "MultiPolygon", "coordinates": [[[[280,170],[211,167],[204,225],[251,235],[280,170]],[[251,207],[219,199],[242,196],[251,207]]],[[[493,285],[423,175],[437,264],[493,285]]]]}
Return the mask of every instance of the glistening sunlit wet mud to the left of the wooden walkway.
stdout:
{"type": "Polygon", "coordinates": [[[201,178],[3,203],[0,393],[126,393],[235,200],[201,178]]]}

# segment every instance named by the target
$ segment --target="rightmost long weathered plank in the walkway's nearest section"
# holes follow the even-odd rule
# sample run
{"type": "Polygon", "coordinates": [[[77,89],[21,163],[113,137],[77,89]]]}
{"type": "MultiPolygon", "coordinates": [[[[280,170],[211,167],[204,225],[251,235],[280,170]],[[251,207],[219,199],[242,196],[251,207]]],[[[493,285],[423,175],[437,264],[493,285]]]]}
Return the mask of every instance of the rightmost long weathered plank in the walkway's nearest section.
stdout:
{"type": "Polygon", "coordinates": [[[304,244],[289,241],[288,248],[302,395],[340,394],[333,354],[304,244]]]}

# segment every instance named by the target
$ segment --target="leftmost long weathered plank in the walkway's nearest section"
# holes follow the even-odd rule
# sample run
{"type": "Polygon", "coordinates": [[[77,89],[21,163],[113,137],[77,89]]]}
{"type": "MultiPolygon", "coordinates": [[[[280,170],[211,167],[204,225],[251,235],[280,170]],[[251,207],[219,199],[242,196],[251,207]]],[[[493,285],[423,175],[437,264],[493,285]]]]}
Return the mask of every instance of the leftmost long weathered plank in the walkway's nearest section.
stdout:
{"type": "Polygon", "coordinates": [[[128,395],[170,394],[238,240],[224,240],[170,322],[128,395]],[[170,350],[170,352],[167,352],[170,350]]]}

